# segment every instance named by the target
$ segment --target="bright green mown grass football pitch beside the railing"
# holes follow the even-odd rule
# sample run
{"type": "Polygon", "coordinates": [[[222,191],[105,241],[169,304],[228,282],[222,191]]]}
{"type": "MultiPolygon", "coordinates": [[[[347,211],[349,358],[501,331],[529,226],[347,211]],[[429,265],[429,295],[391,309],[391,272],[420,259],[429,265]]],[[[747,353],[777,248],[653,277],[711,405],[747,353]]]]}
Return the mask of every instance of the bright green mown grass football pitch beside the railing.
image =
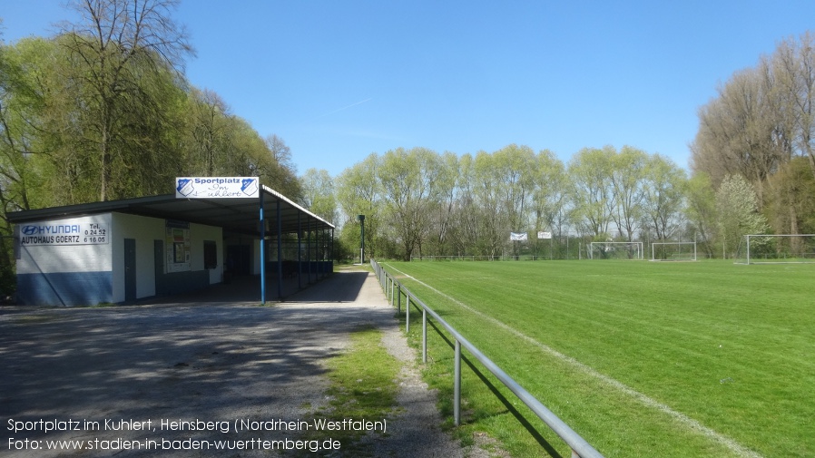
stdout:
{"type": "MultiPolygon", "coordinates": [[[[607,457],[815,456],[815,265],[383,266],[607,457]]],[[[449,416],[453,354],[430,346],[427,378],[449,416]]],[[[491,377],[463,372],[460,436],[569,456],[491,377]]]]}

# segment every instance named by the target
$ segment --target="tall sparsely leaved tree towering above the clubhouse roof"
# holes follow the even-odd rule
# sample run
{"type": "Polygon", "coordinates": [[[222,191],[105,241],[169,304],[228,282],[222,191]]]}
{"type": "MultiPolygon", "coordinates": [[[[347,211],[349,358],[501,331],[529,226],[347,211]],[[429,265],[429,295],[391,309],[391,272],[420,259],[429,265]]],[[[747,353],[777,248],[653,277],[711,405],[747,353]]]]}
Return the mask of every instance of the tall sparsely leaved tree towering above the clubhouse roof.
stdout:
{"type": "Polygon", "coordinates": [[[80,19],[63,27],[62,43],[74,65],[66,76],[83,86],[85,139],[98,156],[99,200],[108,200],[130,102],[137,98],[140,106],[150,105],[141,97],[147,95],[140,86],[144,73],[181,69],[192,47],[183,27],[172,21],[175,0],[74,0],[72,5],[80,19]]]}

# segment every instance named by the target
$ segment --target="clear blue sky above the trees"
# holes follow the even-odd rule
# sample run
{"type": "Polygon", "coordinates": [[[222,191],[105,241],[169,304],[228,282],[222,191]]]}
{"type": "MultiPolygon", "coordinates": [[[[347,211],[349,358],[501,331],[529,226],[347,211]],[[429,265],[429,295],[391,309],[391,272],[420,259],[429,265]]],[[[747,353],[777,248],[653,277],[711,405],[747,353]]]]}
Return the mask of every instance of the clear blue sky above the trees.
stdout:
{"type": "MultiPolygon", "coordinates": [[[[3,38],[53,34],[64,0],[0,0],[3,38]]],[[[687,168],[697,110],[732,73],[815,30],[808,1],[183,0],[188,79],[299,173],[371,152],[517,143],[563,161],[631,145],[687,168]]]]}

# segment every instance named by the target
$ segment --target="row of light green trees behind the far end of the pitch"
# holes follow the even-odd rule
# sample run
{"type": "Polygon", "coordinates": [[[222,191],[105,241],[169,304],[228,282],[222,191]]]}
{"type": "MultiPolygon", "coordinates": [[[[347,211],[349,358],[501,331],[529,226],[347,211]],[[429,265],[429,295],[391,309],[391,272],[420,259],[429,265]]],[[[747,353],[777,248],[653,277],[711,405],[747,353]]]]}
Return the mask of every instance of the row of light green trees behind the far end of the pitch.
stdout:
{"type": "Polygon", "coordinates": [[[359,246],[356,217],[364,214],[367,256],[405,259],[517,255],[511,232],[530,235],[527,249],[547,244],[552,258],[567,256],[568,239],[574,249],[581,241],[699,239],[712,255],[707,228],[722,215],[705,218],[723,199],[694,189],[698,180],[670,158],[630,146],[584,148],[567,162],[516,144],[461,156],[398,148],[369,155],[332,186],[344,245],[359,246]],[[539,231],[555,242],[538,240],[539,231]],[[555,243],[560,254],[551,253],[555,243]]]}

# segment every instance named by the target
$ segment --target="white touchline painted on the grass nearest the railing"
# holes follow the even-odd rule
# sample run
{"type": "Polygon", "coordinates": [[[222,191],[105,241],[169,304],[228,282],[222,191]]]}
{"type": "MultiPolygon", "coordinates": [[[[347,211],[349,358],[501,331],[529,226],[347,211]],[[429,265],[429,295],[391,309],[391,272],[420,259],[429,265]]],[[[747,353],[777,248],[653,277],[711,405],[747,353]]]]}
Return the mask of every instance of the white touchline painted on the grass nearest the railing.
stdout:
{"type": "Polygon", "coordinates": [[[518,336],[518,337],[524,339],[525,341],[533,344],[534,346],[537,346],[538,348],[545,351],[549,355],[555,356],[557,359],[560,359],[561,361],[564,361],[565,363],[568,363],[570,365],[574,365],[575,367],[577,367],[578,369],[583,371],[586,375],[591,375],[591,376],[599,379],[604,384],[609,385],[609,386],[611,386],[613,388],[616,388],[617,390],[620,390],[625,395],[632,396],[634,399],[636,399],[637,401],[645,404],[648,407],[652,407],[652,408],[657,409],[658,411],[662,412],[663,414],[668,414],[668,415],[672,416],[673,419],[676,420],[677,422],[679,422],[680,424],[683,424],[683,425],[687,426],[692,431],[696,431],[696,432],[702,434],[703,436],[711,439],[714,442],[721,443],[725,447],[729,448],[733,453],[736,453],[736,454],[738,454],[740,456],[747,457],[747,458],[763,458],[761,454],[753,452],[752,450],[750,450],[750,449],[744,447],[743,445],[741,445],[741,443],[737,443],[732,438],[727,437],[726,435],[717,433],[716,431],[712,430],[711,428],[699,423],[698,421],[692,419],[691,417],[689,417],[689,416],[687,416],[685,414],[676,412],[675,410],[673,410],[668,405],[660,403],[659,401],[657,401],[656,399],[653,399],[652,397],[649,397],[647,395],[643,395],[642,393],[634,390],[631,386],[625,385],[624,383],[622,383],[622,382],[620,382],[618,380],[615,380],[614,378],[609,377],[608,375],[603,375],[603,374],[595,371],[593,367],[591,367],[589,365],[584,365],[580,361],[577,361],[576,359],[574,359],[572,356],[566,356],[563,353],[560,353],[559,351],[555,350],[555,348],[552,348],[551,346],[546,346],[545,344],[542,344],[541,342],[538,342],[534,338],[532,338],[530,336],[526,336],[525,334],[518,331],[516,328],[514,328],[512,326],[509,326],[509,325],[506,325],[505,323],[497,320],[495,317],[490,317],[489,315],[486,315],[483,312],[479,312],[478,310],[476,310],[473,307],[467,306],[465,303],[461,302],[457,298],[448,296],[447,294],[439,291],[435,287],[431,287],[430,285],[427,285],[427,283],[419,280],[418,278],[411,277],[408,274],[406,274],[405,272],[402,272],[402,271],[398,270],[397,268],[394,268],[391,265],[386,264],[386,266],[388,266],[389,268],[392,268],[394,271],[396,271],[399,274],[403,275],[405,278],[411,278],[414,281],[416,281],[418,284],[420,284],[420,285],[422,285],[424,287],[427,287],[428,289],[436,292],[439,296],[446,297],[447,299],[449,299],[452,302],[454,302],[455,304],[457,304],[459,307],[463,307],[467,311],[470,311],[470,312],[476,314],[478,317],[482,317],[482,318],[486,319],[487,321],[495,324],[496,326],[499,326],[499,327],[505,329],[506,331],[514,334],[515,336],[518,336]]]}

